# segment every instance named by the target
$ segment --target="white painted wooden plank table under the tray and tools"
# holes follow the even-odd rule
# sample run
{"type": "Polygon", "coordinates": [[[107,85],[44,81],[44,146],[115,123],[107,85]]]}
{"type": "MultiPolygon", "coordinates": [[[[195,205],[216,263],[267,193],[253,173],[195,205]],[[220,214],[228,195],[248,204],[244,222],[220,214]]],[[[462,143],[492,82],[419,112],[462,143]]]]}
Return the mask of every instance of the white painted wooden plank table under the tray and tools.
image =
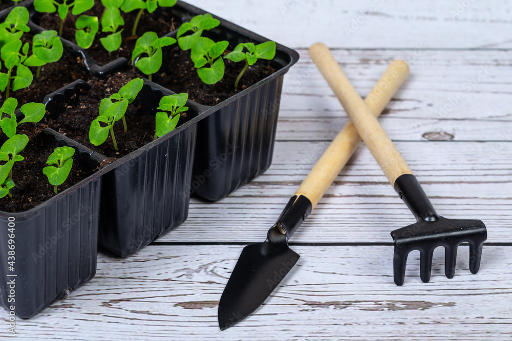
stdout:
{"type": "Polygon", "coordinates": [[[271,168],[224,200],[193,200],[183,225],[130,258],[100,253],[90,283],[33,319],[18,320],[16,336],[512,338],[512,4],[193,3],[301,54],[285,78],[271,168]],[[429,284],[419,279],[417,253],[410,256],[403,287],[393,284],[389,233],[413,217],[361,145],[292,237],[300,262],[261,309],[221,332],[218,301],[243,245],[264,240],[328,140],[347,122],[307,55],[317,40],[334,48],[361,96],[391,60],[409,62],[411,76],[380,122],[439,214],[485,222],[489,237],[481,269],[470,274],[467,246],[461,246],[456,276],[446,279],[443,251],[437,249],[429,284]],[[457,94],[462,98],[455,103],[457,94]]]}

